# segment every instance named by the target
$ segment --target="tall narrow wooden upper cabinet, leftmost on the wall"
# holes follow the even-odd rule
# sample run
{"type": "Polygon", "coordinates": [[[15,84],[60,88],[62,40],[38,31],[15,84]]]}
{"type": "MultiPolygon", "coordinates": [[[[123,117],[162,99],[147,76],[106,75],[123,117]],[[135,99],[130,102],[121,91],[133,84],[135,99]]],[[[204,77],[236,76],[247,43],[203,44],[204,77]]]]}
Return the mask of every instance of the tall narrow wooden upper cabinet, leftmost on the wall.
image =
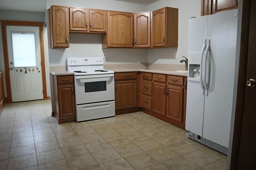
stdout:
{"type": "Polygon", "coordinates": [[[68,7],[51,6],[49,10],[50,47],[69,47],[68,7]]]}

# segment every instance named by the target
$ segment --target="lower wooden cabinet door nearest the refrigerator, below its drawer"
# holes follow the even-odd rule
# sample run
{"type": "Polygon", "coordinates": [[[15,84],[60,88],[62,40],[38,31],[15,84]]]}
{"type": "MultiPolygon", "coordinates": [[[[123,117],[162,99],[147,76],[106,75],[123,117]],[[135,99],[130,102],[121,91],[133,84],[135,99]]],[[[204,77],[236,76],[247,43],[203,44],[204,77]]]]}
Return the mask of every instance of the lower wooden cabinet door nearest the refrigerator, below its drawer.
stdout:
{"type": "Polygon", "coordinates": [[[166,117],[182,123],[184,96],[183,87],[169,85],[166,96],[166,117]]]}

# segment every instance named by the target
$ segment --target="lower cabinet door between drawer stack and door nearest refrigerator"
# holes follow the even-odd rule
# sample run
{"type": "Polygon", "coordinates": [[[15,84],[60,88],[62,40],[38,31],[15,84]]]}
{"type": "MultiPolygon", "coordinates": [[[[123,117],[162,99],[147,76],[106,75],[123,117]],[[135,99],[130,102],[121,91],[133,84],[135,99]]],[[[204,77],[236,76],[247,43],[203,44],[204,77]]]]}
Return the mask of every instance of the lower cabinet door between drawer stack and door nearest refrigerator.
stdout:
{"type": "Polygon", "coordinates": [[[160,115],[165,115],[166,108],[166,84],[153,83],[152,111],[160,115]]]}

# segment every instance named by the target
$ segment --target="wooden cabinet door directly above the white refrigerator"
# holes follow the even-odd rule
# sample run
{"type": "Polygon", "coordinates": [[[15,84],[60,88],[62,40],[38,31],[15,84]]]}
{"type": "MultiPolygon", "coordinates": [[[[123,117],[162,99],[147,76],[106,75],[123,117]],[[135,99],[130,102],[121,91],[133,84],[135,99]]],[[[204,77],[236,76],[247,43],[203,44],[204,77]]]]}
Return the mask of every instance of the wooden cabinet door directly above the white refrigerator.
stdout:
{"type": "Polygon", "coordinates": [[[213,0],[212,14],[238,8],[238,0],[213,0]]]}

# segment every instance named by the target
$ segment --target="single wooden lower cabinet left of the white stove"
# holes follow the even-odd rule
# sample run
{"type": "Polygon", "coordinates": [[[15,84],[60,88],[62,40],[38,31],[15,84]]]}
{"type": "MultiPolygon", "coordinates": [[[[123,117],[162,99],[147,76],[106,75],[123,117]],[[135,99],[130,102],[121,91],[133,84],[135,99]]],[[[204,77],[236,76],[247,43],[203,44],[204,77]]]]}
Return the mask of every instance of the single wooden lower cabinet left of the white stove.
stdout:
{"type": "Polygon", "coordinates": [[[76,101],[74,92],[74,76],[52,76],[54,92],[54,108],[52,116],[58,123],[76,120],[76,101]]]}

